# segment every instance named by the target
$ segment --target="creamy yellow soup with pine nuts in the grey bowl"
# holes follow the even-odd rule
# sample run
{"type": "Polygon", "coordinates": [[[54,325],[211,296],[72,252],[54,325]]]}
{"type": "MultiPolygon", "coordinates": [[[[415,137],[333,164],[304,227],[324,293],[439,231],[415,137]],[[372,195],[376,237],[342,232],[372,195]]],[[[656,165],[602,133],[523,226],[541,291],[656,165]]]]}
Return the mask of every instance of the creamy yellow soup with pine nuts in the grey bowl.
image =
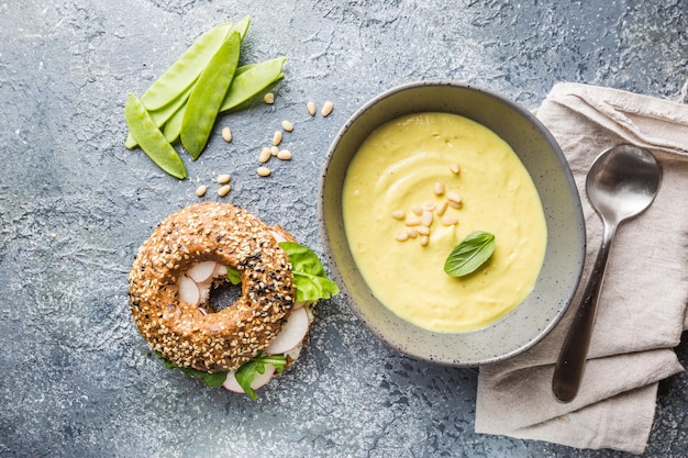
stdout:
{"type": "Polygon", "coordinates": [[[511,147],[489,129],[448,113],[415,113],[376,130],[344,182],[346,236],[375,297],[429,331],[474,331],[532,291],[547,230],[535,186],[511,147]],[[474,231],[495,234],[477,271],[444,272],[474,231]]]}

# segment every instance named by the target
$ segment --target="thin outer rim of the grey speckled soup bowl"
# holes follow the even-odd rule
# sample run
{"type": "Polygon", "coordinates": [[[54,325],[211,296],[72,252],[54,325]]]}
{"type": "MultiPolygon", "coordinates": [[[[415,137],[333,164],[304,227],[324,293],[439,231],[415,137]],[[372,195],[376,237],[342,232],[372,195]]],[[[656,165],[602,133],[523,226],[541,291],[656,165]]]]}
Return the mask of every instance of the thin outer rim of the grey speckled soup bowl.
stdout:
{"type": "MultiPolygon", "coordinates": [[[[318,211],[318,216],[319,216],[319,232],[320,232],[321,239],[323,242],[324,256],[325,256],[325,259],[326,259],[326,262],[328,262],[328,267],[331,270],[332,276],[335,278],[337,284],[340,286],[340,288],[341,288],[341,290],[343,292],[344,301],[346,302],[348,309],[354,312],[354,314],[358,317],[358,320],[360,320],[360,322],[364,324],[364,326],[369,332],[371,332],[378,339],[380,339],[388,347],[392,348],[395,351],[397,351],[397,353],[399,353],[399,354],[401,354],[403,356],[407,356],[407,357],[410,357],[410,358],[413,358],[413,359],[417,359],[417,360],[423,360],[423,361],[426,361],[426,362],[432,362],[434,365],[451,366],[451,367],[479,367],[479,366],[482,366],[482,365],[489,365],[489,364],[493,364],[493,362],[503,361],[506,359],[513,358],[517,355],[520,355],[520,354],[529,350],[530,348],[532,348],[533,346],[535,346],[540,342],[542,342],[552,332],[552,329],[554,329],[554,327],[556,327],[556,325],[561,322],[562,317],[566,314],[566,312],[568,311],[568,309],[572,305],[572,302],[573,302],[573,300],[574,300],[574,298],[576,295],[576,292],[579,289],[580,281],[581,281],[581,278],[582,278],[582,273],[584,273],[586,252],[587,252],[587,233],[586,233],[586,225],[585,225],[585,215],[584,215],[584,212],[582,212],[582,203],[581,203],[579,190],[578,190],[578,188],[576,186],[576,181],[574,179],[573,171],[570,170],[570,166],[568,164],[568,160],[566,159],[566,157],[565,157],[563,150],[562,150],[558,142],[556,141],[554,135],[552,135],[550,130],[535,116],[535,114],[532,113],[531,111],[529,111],[528,109],[525,109],[524,107],[522,107],[521,104],[517,103],[515,101],[513,101],[513,100],[511,100],[511,99],[509,99],[509,98],[507,98],[507,97],[504,97],[504,96],[502,96],[502,94],[500,94],[500,93],[498,93],[498,92],[496,92],[493,90],[487,89],[487,88],[481,87],[481,86],[468,83],[468,82],[462,82],[462,81],[456,81],[456,80],[444,80],[444,79],[431,79],[431,80],[419,80],[419,81],[406,82],[406,83],[401,83],[401,85],[397,85],[395,87],[391,87],[391,88],[389,88],[389,89],[387,89],[387,90],[385,90],[382,92],[379,92],[378,94],[376,94],[373,98],[370,98],[363,105],[360,105],[360,108],[358,108],[356,111],[354,111],[354,113],[351,114],[351,116],[346,120],[346,122],[339,130],[337,134],[334,136],[334,138],[332,139],[332,142],[330,143],[330,146],[328,148],[328,154],[326,154],[325,160],[324,160],[324,163],[322,165],[321,172],[320,172],[320,178],[319,178],[317,211],[318,211]],[[387,99],[389,97],[392,97],[392,96],[395,96],[395,94],[397,94],[399,92],[404,92],[404,91],[411,90],[411,89],[418,89],[418,88],[421,88],[421,87],[437,87],[437,86],[453,87],[453,88],[457,88],[457,89],[467,89],[467,90],[477,91],[477,92],[484,93],[484,94],[486,94],[486,96],[488,96],[490,98],[493,98],[493,99],[498,100],[499,102],[501,102],[501,103],[508,105],[509,108],[513,109],[514,111],[517,111],[523,118],[525,118],[537,130],[537,132],[543,137],[545,137],[547,144],[552,148],[552,152],[555,154],[557,161],[562,165],[562,169],[563,169],[562,171],[563,171],[564,178],[566,179],[566,182],[568,185],[567,189],[568,189],[568,191],[569,191],[569,193],[572,196],[572,200],[573,200],[573,204],[574,204],[576,226],[580,231],[580,239],[581,239],[581,243],[578,246],[578,259],[580,259],[580,261],[579,261],[579,266],[577,268],[577,271],[575,273],[575,277],[573,278],[573,282],[570,283],[572,288],[568,291],[568,294],[567,294],[566,299],[563,301],[564,302],[563,306],[561,306],[559,310],[557,311],[557,313],[555,315],[553,315],[551,317],[551,320],[548,320],[547,325],[543,326],[542,329],[536,335],[534,335],[533,338],[530,338],[525,344],[519,346],[518,348],[513,348],[513,349],[511,349],[509,351],[499,353],[497,355],[482,358],[482,359],[480,359],[478,361],[470,361],[470,362],[437,360],[437,359],[434,359],[432,357],[425,357],[425,356],[420,355],[420,354],[411,353],[411,351],[404,349],[403,347],[401,347],[396,342],[391,340],[377,326],[375,326],[374,323],[371,323],[370,320],[363,313],[360,308],[357,304],[353,303],[355,301],[353,300],[352,294],[349,293],[348,286],[344,281],[344,278],[343,278],[343,276],[341,273],[340,267],[337,266],[337,262],[335,260],[334,254],[332,253],[331,238],[330,238],[330,235],[328,233],[328,227],[326,227],[326,223],[325,223],[325,219],[324,219],[323,196],[324,196],[324,189],[325,189],[325,183],[326,183],[326,178],[328,178],[328,169],[329,169],[329,166],[330,166],[330,164],[331,164],[331,161],[333,159],[334,153],[335,153],[340,142],[342,141],[342,138],[344,137],[344,135],[346,134],[348,129],[356,122],[356,120],[363,113],[365,113],[370,108],[373,108],[374,105],[376,105],[377,103],[379,103],[380,101],[382,101],[382,100],[385,100],[385,99],[387,99]]],[[[510,313],[508,313],[507,315],[500,317],[497,322],[503,320],[510,313]]],[[[399,320],[402,320],[402,319],[399,317],[399,320]]],[[[412,324],[410,324],[410,325],[412,325],[412,324]]],[[[477,331],[479,331],[479,329],[477,329],[477,331]]],[[[440,334],[440,333],[437,333],[437,334],[440,334]]]]}

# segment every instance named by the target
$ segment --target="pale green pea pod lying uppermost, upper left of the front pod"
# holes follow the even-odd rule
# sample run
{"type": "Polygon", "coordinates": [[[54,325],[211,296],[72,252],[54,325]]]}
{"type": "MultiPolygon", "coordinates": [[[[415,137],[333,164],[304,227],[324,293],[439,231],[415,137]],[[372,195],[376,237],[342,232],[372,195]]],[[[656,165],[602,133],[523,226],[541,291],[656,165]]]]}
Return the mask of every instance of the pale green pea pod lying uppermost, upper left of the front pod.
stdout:
{"type": "Polygon", "coordinates": [[[224,22],[199,36],[141,96],[144,107],[149,111],[158,110],[193,85],[208,62],[224,43],[231,27],[231,22],[224,22]]]}

